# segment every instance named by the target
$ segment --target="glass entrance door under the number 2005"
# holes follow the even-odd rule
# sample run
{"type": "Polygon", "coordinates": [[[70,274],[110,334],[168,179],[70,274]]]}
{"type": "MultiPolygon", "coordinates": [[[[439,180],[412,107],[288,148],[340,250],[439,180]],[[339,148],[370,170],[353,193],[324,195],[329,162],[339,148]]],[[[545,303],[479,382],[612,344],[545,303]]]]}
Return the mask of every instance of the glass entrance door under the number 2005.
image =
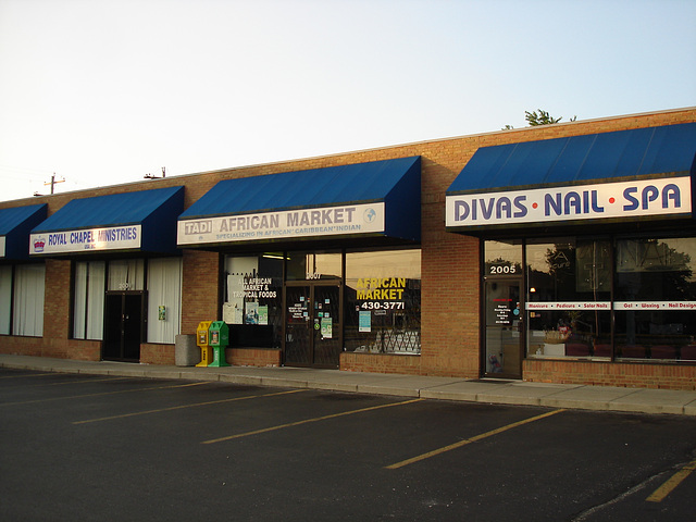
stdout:
{"type": "Polygon", "coordinates": [[[484,374],[488,377],[522,377],[521,287],[520,278],[488,278],[485,282],[484,374]]]}

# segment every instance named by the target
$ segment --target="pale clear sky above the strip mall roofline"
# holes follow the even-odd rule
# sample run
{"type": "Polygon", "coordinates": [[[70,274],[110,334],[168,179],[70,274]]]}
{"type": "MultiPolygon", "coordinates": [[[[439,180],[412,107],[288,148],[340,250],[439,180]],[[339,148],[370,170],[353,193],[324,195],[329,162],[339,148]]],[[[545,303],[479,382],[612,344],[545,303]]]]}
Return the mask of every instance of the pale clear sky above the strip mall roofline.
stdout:
{"type": "Polygon", "coordinates": [[[696,0],[0,0],[0,200],[696,105],[696,0]]]}

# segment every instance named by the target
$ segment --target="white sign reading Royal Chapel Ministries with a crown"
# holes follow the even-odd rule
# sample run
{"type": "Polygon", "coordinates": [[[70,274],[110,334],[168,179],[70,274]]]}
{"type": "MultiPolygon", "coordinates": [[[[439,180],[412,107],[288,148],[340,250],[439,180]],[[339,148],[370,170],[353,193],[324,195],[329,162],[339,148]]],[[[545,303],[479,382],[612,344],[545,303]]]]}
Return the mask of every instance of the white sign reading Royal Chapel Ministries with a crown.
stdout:
{"type": "Polygon", "coordinates": [[[141,225],[128,225],[32,234],[29,253],[140,248],[141,229],[141,225]]]}

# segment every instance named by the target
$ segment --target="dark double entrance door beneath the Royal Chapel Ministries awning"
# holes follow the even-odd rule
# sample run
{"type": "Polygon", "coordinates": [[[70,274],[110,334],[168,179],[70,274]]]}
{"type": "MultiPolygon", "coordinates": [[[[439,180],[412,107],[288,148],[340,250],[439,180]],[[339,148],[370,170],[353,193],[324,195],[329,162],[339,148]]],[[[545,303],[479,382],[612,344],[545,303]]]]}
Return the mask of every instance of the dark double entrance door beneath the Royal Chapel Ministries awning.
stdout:
{"type": "Polygon", "coordinates": [[[141,291],[107,293],[102,359],[140,361],[144,297],[141,291]]]}

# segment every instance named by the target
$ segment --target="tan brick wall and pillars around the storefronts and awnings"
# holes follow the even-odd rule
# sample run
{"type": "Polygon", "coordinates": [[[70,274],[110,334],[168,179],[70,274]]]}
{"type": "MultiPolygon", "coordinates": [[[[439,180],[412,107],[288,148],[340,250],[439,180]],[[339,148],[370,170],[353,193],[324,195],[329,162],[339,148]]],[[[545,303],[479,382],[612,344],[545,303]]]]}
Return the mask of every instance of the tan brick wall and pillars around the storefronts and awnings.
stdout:
{"type": "MultiPolygon", "coordinates": [[[[185,208],[219,181],[327,167],[393,158],[421,157],[422,279],[420,356],[344,352],[340,369],[420,375],[478,377],[481,372],[480,240],[445,232],[445,191],[480,147],[696,121],[696,108],[500,130],[350,153],[277,162],[138,182],[116,187],[0,202],[0,208],[47,202],[49,215],[73,198],[184,185],[185,208]]],[[[182,334],[194,334],[201,320],[220,319],[221,254],[183,252],[182,334]]],[[[99,343],[70,339],[71,261],[47,260],[44,338],[0,337],[0,352],[96,360],[99,343]]],[[[277,350],[228,350],[237,364],[276,365],[277,350]]],[[[173,364],[173,345],[141,346],[141,362],[173,364]]],[[[527,360],[523,377],[619,386],[694,389],[696,366],[527,360]]]]}

